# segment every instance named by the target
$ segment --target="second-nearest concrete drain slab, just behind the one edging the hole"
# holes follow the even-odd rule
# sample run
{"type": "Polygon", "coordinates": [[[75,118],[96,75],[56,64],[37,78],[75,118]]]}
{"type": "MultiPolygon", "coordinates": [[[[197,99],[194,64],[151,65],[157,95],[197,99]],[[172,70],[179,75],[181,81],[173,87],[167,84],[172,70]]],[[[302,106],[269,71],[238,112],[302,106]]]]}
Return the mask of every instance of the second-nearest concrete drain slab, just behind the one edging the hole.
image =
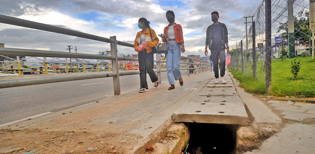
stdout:
{"type": "Polygon", "coordinates": [[[221,102],[221,103],[242,103],[241,98],[236,96],[194,96],[192,102],[221,102]]]}

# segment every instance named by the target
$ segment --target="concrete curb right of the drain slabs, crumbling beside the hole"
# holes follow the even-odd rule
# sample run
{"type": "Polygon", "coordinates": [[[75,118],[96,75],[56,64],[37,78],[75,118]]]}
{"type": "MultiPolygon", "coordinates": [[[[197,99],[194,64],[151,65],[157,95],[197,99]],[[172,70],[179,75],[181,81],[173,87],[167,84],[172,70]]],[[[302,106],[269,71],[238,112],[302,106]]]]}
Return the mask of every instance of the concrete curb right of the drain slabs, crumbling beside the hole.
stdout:
{"type": "Polygon", "coordinates": [[[240,127],[237,131],[237,151],[243,153],[257,149],[262,141],[279,132],[282,127],[282,120],[261,100],[239,87],[240,83],[233,77],[231,72],[229,72],[229,75],[252,122],[251,126],[240,127]]]}

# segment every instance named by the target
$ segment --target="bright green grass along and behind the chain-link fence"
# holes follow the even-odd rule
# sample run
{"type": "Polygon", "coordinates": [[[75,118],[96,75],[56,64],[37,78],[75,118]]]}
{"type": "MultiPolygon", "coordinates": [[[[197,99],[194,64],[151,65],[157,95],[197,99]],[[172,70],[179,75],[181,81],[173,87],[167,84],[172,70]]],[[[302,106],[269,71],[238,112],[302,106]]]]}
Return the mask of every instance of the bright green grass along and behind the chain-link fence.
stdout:
{"type": "MultiPolygon", "coordinates": [[[[315,60],[312,57],[297,58],[301,61],[301,69],[298,80],[293,80],[290,72],[293,59],[272,60],[272,86],[270,94],[274,96],[298,96],[315,97],[315,60]]],[[[235,78],[240,80],[241,86],[247,92],[265,94],[266,84],[264,80],[253,78],[250,74],[241,74],[230,68],[235,78]]],[[[264,74],[263,69],[257,69],[259,74],[264,74]]]]}

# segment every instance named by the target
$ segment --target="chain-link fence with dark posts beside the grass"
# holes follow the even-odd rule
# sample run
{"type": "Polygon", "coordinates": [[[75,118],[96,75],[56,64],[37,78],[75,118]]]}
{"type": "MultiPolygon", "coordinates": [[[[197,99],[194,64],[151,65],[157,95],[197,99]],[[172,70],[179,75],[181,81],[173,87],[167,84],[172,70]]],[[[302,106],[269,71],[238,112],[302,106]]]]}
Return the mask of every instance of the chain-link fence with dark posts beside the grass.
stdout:
{"type": "Polygon", "coordinates": [[[242,36],[242,43],[239,42],[231,51],[230,68],[244,76],[254,77],[259,82],[266,82],[266,94],[271,92],[276,95],[315,97],[315,61],[312,45],[315,2],[261,0],[259,4],[258,8],[254,9],[256,10],[254,16],[245,17],[248,21],[245,22],[246,32],[242,36]],[[268,3],[270,4],[266,7],[268,3]],[[268,6],[271,6],[271,9],[266,11],[268,6]],[[270,19],[267,20],[269,17],[267,13],[271,13],[271,22],[270,19]],[[266,45],[269,41],[270,47],[266,45]],[[271,54],[266,54],[268,51],[271,54]],[[268,69],[268,66],[271,66],[271,69],[268,69]],[[271,73],[271,75],[267,73],[267,78],[266,68],[267,72],[271,73]],[[284,88],[292,90],[283,92],[284,88]],[[300,91],[297,92],[293,88],[300,91]]]}

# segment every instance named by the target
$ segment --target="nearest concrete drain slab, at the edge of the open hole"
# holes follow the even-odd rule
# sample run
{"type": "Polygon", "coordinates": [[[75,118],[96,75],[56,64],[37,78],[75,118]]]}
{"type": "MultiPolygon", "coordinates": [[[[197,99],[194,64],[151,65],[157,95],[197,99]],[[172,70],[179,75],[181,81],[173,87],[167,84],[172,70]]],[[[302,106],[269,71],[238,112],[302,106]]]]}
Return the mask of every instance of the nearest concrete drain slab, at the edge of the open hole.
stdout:
{"type": "Polygon", "coordinates": [[[173,113],[174,122],[220,123],[247,126],[243,103],[187,102],[173,113]]]}

